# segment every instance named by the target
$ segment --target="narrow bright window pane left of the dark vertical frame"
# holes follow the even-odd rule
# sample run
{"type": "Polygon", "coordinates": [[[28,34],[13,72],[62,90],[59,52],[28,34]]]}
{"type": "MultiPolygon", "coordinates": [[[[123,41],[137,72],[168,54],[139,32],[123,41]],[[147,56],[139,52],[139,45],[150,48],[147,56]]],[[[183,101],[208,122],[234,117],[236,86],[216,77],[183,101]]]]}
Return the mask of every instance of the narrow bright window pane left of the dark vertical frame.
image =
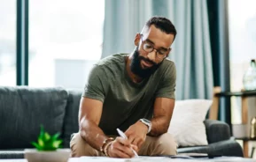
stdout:
{"type": "Polygon", "coordinates": [[[0,85],[16,85],[16,1],[0,0],[0,85]]]}

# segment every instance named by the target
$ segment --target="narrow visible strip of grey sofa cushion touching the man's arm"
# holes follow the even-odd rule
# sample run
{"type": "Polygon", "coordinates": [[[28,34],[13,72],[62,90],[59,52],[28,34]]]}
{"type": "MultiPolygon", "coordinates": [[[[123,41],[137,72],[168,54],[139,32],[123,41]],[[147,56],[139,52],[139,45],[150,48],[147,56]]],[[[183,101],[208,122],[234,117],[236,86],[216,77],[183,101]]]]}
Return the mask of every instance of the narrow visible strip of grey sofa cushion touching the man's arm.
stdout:
{"type": "Polygon", "coordinates": [[[63,138],[64,147],[69,147],[71,135],[78,132],[78,111],[82,91],[68,90],[68,100],[64,119],[63,138]]]}

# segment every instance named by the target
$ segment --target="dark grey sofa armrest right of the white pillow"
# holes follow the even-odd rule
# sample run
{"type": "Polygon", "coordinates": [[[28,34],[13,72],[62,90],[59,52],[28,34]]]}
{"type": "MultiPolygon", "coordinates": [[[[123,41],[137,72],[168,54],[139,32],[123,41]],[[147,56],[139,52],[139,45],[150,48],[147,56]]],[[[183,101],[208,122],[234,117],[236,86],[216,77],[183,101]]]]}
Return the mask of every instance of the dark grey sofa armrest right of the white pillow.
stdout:
{"type": "Polygon", "coordinates": [[[228,140],[230,138],[229,125],[226,122],[205,120],[208,144],[228,140]]]}

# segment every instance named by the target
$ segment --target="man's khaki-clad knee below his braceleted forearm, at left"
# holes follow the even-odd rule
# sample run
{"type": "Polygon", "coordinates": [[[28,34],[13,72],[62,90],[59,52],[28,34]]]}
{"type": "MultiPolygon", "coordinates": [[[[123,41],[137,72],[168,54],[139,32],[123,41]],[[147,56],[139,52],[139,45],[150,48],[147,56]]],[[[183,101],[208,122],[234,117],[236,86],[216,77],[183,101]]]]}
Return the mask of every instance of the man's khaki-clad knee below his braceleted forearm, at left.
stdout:
{"type": "Polygon", "coordinates": [[[70,141],[70,149],[72,157],[81,156],[98,156],[97,150],[92,148],[80,136],[80,133],[75,133],[70,141]]]}

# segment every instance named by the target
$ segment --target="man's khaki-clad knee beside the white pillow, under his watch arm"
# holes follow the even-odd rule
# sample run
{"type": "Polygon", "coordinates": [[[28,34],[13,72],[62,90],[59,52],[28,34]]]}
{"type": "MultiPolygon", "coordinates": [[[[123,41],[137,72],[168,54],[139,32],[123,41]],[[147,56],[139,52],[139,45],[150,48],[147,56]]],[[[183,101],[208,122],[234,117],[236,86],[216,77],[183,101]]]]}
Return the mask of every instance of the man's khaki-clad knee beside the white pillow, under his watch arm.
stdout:
{"type": "Polygon", "coordinates": [[[155,141],[156,153],[159,155],[176,155],[177,154],[177,144],[175,143],[175,138],[169,133],[165,133],[155,141]]]}

